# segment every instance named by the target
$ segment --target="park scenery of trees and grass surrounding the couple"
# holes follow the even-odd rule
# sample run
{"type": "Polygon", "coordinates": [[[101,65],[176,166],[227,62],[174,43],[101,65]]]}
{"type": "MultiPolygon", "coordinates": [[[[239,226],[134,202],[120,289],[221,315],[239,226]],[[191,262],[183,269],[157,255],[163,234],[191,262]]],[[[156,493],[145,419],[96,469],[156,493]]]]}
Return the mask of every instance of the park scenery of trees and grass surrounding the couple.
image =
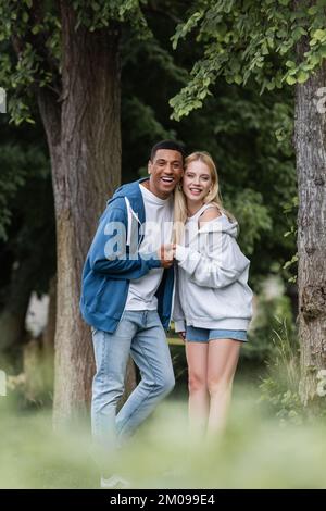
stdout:
{"type": "Polygon", "coordinates": [[[254,319],[223,441],[185,434],[172,331],[176,388],[112,462],[135,487],[325,487],[326,2],[0,0],[0,487],[98,485],[80,274],[165,138],[217,163],[254,319]]]}

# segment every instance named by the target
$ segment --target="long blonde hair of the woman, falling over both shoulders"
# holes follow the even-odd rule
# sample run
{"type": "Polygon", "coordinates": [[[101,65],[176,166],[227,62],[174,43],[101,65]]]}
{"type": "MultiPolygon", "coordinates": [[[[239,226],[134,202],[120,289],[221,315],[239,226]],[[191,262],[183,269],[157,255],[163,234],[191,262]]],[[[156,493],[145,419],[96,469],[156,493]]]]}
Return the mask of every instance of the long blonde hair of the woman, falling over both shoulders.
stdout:
{"type": "MultiPolygon", "coordinates": [[[[185,160],[185,171],[189,163],[193,161],[201,161],[203,162],[208,169],[210,170],[211,178],[212,178],[212,186],[210,192],[204,198],[204,203],[208,204],[212,202],[217,205],[221,213],[224,213],[230,222],[236,222],[236,219],[233,214],[230,214],[224,207],[222,202],[222,198],[220,195],[220,186],[218,186],[218,175],[215,163],[212,157],[204,151],[196,151],[189,154],[189,157],[185,160]]],[[[183,191],[181,182],[177,185],[174,191],[174,228],[173,228],[173,242],[179,244],[184,230],[185,230],[185,223],[187,221],[187,200],[186,196],[183,191]]]]}

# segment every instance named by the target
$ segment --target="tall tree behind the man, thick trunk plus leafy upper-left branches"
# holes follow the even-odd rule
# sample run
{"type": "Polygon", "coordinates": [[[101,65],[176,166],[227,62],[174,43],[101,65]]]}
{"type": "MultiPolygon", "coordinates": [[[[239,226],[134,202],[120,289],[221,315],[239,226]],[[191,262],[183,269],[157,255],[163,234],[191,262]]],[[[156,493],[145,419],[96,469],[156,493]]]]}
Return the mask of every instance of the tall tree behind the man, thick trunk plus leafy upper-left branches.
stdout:
{"type": "Polygon", "coordinates": [[[1,78],[9,109],[33,122],[36,95],[47,134],[55,203],[58,306],[54,424],[85,411],[93,374],[79,314],[80,275],[105,198],[120,183],[120,24],[141,24],[138,2],[25,0],[0,3],[1,78]],[[99,11],[100,8],[100,11],[99,11]],[[10,96],[10,95],[9,95],[10,96]]]}

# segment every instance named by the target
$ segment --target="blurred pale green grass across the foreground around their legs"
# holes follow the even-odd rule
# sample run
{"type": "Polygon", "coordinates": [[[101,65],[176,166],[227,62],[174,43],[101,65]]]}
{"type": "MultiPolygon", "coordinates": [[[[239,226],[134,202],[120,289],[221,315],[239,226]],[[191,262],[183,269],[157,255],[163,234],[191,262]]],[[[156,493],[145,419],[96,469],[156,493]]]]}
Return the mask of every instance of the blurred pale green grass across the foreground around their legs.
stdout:
{"type": "MultiPolygon", "coordinates": [[[[54,434],[48,411],[22,412],[0,398],[1,488],[97,488],[89,424],[54,434]]],[[[238,378],[222,441],[189,438],[187,403],[159,407],[111,459],[133,488],[325,488],[326,426],[280,425],[238,378]]]]}

